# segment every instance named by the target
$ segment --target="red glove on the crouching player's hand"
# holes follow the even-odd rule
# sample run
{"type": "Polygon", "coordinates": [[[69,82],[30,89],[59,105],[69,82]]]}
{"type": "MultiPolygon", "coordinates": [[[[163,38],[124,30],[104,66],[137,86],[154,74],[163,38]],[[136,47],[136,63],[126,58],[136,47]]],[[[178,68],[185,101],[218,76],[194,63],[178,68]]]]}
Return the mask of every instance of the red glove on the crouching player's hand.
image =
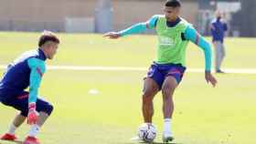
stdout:
{"type": "Polygon", "coordinates": [[[38,113],[36,110],[36,103],[30,103],[28,105],[27,124],[36,124],[38,120],[38,113]]]}

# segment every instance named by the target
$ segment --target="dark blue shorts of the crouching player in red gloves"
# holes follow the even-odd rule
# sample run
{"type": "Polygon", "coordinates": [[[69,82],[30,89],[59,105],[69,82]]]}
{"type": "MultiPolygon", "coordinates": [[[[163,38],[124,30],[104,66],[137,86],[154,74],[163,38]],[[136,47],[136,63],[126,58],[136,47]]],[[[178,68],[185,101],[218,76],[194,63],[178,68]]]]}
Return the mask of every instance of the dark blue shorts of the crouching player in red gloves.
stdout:
{"type": "MultiPolygon", "coordinates": [[[[2,98],[2,103],[5,106],[16,108],[21,111],[21,115],[27,117],[28,114],[28,95],[27,91],[21,92],[18,96],[9,96],[2,98]]],[[[37,111],[46,112],[48,115],[51,114],[53,106],[42,98],[37,98],[37,111]]]]}

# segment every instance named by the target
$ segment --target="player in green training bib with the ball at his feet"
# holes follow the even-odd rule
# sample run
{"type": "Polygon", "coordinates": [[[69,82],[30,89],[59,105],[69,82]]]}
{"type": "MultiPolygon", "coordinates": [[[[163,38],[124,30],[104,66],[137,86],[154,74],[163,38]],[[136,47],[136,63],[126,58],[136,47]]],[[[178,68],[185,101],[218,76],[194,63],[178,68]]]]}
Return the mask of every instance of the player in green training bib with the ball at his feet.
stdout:
{"type": "MultiPolygon", "coordinates": [[[[173,95],[186,71],[186,48],[189,41],[199,46],[205,54],[205,78],[213,86],[217,80],[211,74],[211,46],[197,33],[197,30],[179,16],[181,3],[178,0],[165,2],[165,15],[154,15],[147,22],[133,25],[120,32],[105,36],[119,38],[155,29],[158,36],[157,56],[144,78],[143,115],[144,123],[151,125],[154,115],[153,98],[162,90],[165,118],[163,141],[174,139],[171,119],[174,111],[173,95]]],[[[146,136],[145,136],[146,137],[146,136]]],[[[143,139],[144,140],[144,139],[143,139]]]]}

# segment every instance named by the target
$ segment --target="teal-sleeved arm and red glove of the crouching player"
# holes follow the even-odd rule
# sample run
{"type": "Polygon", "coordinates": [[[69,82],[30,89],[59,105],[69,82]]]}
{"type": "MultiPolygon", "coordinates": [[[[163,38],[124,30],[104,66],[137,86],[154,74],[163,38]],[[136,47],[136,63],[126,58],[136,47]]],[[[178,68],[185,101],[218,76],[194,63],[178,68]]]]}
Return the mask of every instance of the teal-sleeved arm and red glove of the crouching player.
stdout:
{"type": "Polygon", "coordinates": [[[37,58],[30,58],[27,60],[28,67],[30,68],[29,77],[29,97],[28,97],[28,115],[27,123],[29,125],[36,124],[37,122],[37,93],[38,87],[41,83],[41,78],[45,71],[45,64],[37,58]]]}

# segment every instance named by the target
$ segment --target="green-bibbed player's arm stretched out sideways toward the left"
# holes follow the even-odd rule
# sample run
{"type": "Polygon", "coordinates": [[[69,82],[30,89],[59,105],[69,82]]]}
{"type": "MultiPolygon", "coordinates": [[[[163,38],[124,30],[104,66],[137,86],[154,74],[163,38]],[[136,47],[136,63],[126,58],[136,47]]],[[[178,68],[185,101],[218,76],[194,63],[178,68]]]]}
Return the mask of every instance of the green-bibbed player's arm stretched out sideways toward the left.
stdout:
{"type": "Polygon", "coordinates": [[[143,33],[144,31],[146,31],[146,29],[155,28],[157,18],[158,18],[158,15],[154,15],[147,22],[135,24],[120,32],[109,32],[105,34],[104,37],[117,39],[121,36],[129,36],[133,34],[143,33]]]}

